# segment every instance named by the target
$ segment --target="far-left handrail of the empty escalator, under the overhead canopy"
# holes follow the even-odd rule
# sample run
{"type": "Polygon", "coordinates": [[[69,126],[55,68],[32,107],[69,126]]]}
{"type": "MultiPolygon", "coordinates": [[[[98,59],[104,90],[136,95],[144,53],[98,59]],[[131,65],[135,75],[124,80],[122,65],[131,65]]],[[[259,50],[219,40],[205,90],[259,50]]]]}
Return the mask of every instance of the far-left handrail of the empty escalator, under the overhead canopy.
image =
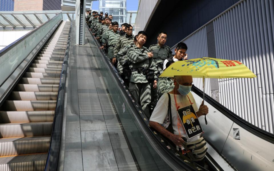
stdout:
{"type": "Polygon", "coordinates": [[[9,44],[8,46],[6,46],[5,48],[0,50],[0,58],[1,56],[3,56],[6,52],[8,52],[11,48],[13,48],[14,46],[16,46],[17,44],[19,44],[20,42],[22,42],[23,40],[25,40],[25,38],[29,37],[31,34],[35,33],[37,30],[39,30],[40,28],[43,27],[43,25],[47,24],[48,22],[50,22],[52,19],[56,18],[58,15],[62,15],[62,12],[55,15],[53,18],[49,19],[48,21],[46,21],[45,23],[41,24],[40,26],[38,26],[37,28],[34,28],[33,30],[31,30],[30,32],[28,32],[27,34],[25,34],[24,36],[20,37],[19,39],[15,40],[14,42],[12,42],[11,44],[9,44]]]}

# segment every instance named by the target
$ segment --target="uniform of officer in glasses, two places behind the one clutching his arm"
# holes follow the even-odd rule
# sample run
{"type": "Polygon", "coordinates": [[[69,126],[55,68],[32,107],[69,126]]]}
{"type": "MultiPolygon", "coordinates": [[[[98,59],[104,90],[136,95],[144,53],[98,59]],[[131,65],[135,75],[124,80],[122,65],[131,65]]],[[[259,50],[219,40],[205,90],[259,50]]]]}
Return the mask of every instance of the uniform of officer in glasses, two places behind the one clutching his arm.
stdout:
{"type": "Polygon", "coordinates": [[[106,32],[106,34],[104,34],[104,37],[102,37],[102,45],[108,42],[108,58],[109,59],[112,59],[114,57],[113,50],[119,37],[120,37],[120,34],[118,32],[114,33],[113,30],[106,32]]]}

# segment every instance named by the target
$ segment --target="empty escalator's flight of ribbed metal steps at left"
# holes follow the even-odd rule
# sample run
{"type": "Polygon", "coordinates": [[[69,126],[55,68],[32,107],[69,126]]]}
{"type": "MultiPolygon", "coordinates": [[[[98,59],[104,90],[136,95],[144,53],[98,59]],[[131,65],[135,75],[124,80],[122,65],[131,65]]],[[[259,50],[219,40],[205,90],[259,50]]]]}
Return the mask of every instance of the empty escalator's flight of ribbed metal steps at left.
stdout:
{"type": "Polygon", "coordinates": [[[0,107],[1,171],[45,168],[69,30],[59,24],[0,107]]]}

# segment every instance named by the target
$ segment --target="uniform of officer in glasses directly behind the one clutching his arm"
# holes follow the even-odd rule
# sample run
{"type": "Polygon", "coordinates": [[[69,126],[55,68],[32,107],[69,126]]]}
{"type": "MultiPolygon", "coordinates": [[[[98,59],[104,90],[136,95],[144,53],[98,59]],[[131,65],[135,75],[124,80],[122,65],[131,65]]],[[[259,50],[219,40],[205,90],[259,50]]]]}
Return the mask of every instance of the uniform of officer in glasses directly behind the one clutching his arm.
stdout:
{"type": "MultiPolygon", "coordinates": [[[[131,36],[128,36],[127,34],[124,36],[121,36],[118,39],[118,42],[114,47],[114,56],[116,56],[118,54],[118,52],[120,52],[121,49],[123,49],[124,47],[131,45],[131,44],[134,44],[134,36],[132,34],[131,34],[131,36]]],[[[117,60],[118,60],[118,58],[117,58],[117,60]]],[[[119,60],[118,60],[118,64],[117,64],[117,70],[118,70],[119,74],[122,74],[123,67],[120,64],[119,60]]]]}

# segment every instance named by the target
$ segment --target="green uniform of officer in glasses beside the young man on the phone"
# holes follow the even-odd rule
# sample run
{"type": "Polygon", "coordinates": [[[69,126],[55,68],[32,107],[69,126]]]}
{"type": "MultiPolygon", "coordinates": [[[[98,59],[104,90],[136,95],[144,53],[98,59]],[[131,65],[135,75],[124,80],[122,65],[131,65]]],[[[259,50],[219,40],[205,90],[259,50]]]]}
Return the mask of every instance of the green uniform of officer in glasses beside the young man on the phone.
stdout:
{"type": "MultiPolygon", "coordinates": [[[[157,70],[158,70],[158,74],[157,77],[160,76],[160,74],[162,74],[163,72],[163,64],[164,64],[164,60],[167,58],[171,58],[172,57],[172,52],[170,50],[170,47],[164,45],[164,46],[159,46],[158,44],[153,44],[149,47],[149,50],[151,52],[153,52],[153,59],[156,63],[157,66],[157,70]]],[[[153,86],[153,85],[151,85],[153,86]]],[[[157,89],[152,89],[151,91],[151,101],[155,104],[152,105],[156,105],[157,101],[158,101],[158,91],[157,89]]]]}

